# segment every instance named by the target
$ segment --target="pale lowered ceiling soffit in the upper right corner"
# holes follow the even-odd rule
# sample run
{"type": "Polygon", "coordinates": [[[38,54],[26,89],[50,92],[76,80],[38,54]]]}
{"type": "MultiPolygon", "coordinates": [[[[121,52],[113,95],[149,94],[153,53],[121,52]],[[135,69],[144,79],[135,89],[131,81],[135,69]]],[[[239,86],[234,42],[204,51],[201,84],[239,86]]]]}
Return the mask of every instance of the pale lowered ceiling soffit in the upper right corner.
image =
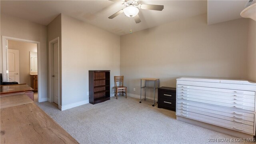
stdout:
{"type": "Polygon", "coordinates": [[[240,12],[244,10],[246,2],[248,0],[208,0],[208,24],[242,18],[240,12]]]}

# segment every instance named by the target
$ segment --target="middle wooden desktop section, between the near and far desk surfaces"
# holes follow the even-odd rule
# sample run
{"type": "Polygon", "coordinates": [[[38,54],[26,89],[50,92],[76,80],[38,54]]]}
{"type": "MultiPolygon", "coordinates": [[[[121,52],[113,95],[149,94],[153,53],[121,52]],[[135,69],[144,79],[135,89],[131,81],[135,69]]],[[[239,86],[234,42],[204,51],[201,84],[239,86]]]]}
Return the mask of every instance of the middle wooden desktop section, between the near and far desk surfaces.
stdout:
{"type": "Polygon", "coordinates": [[[20,104],[27,104],[34,102],[26,94],[13,94],[0,97],[0,108],[6,108],[9,106],[17,106],[20,104]]]}

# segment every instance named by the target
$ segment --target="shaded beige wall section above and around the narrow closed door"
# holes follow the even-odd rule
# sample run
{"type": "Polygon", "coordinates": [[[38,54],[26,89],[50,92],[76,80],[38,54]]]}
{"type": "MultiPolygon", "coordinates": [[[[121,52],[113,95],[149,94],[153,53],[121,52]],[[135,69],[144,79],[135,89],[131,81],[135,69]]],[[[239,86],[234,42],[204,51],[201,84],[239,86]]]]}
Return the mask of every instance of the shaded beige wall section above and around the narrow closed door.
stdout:
{"type": "MultiPolygon", "coordinates": [[[[60,50],[60,54],[61,54],[61,14],[59,14],[54,20],[52,20],[52,22],[50,22],[50,24],[48,24],[47,26],[47,50],[48,50],[48,70],[49,70],[49,66],[50,66],[50,62],[49,62],[49,51],[50,51],[50,48],[49,48],[49,42],[51,40],[54,40],[55,38],[58,38],[59,37],[59,50],[60,50]]],[[[60,60],[60,88],[59,88],[59,95],[60,95],[60,98],[59,98],[59,101],[60,101],[60,105],[62,104],[62,100],[61,100],[61,55],[59,56],[59,60],[60,60]]],[[[53,70],[53,67],[51,68],[51,70],[53,70]]],[[[48,73],[48,79],[49,78],[52,78],[49,73],[48,73]]],[[[48,98],[50,98],[50,81],[48,80],[48,98]]]]}

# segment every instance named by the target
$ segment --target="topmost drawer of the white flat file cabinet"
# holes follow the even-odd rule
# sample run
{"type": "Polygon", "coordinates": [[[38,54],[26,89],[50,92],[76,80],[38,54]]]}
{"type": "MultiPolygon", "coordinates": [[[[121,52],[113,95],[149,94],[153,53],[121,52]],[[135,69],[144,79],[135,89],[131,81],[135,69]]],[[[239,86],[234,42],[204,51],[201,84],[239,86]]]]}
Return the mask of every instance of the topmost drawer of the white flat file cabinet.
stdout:
{"type": "Polygon", "coordinates": [[[178,84],[178,88],[186,89],[194,89],[194,90],[205,90],[205,91],[212,91],[212,92],[225,92],[225,93],[232,93],[232,94],[246,94],[255,96],[254,91],[248,90],[232,90],[232,89],[225,89],[225,88],[208,88],[202,86],[188,86],[188,85],[180,85],[178,84]]]}

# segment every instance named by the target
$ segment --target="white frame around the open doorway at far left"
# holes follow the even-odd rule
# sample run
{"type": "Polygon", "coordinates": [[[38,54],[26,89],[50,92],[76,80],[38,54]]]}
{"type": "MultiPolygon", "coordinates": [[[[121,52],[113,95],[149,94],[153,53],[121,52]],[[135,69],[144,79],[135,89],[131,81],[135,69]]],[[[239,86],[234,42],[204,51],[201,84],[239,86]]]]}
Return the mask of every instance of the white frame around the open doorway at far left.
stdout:
{"type": "Polygon", "coordinates": [[[20,42],[30,42],[37,44],[37,74],[38,74],[38,102],[42,102],[42,78],[41,78],[41,49],[40,42],[34,40],[25,40],[21,38],[13,38],[9,36],[2,36],[2,58],[3,58],[3,81],[7,81],[7,58],[8,58],[8,47],[6,46],[6,40],[16,40],[20,42]]]}

